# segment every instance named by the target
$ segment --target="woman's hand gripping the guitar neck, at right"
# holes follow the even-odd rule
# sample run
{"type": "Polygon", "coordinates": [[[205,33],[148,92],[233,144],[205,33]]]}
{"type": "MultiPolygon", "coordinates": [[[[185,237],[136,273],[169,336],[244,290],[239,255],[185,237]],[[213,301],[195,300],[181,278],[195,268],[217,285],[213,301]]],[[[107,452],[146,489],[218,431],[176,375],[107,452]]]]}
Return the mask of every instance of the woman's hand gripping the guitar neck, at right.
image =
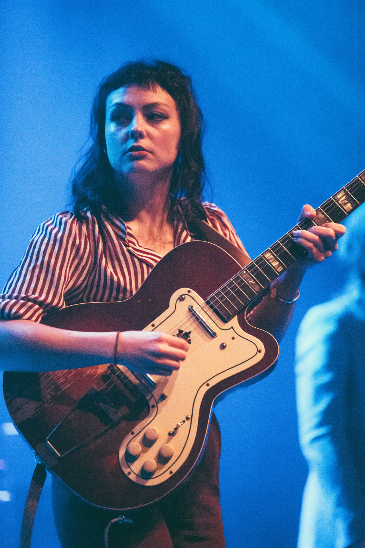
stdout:
{"type": "MultiPolygon", "coordinates": [[[[316,210],[306,204],[302,208],[298,222],[305,218],[312,219],[315,216],[316,210]]],[[[308,251],[308,255],[303,256],[296,262],[300,263],[303,270],[308,270],[311,266],[322,262],[338,248],[337,242],[345,232],[346,228],[335,222],[326,222],[322,226],[312,226],[309,230],[293,230],[294,242],[308,251]]]]}

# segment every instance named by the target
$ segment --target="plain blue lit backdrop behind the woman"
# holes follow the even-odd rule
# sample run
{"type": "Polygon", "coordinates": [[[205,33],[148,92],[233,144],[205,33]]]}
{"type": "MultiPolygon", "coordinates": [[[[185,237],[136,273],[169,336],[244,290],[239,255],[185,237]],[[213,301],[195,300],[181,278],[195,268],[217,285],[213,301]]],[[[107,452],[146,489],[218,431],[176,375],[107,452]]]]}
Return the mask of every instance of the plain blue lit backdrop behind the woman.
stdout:
{"type": "MultiPolygon", "coordinates": [[[[0,285],[34,228],[65,210],[88,136],[92,96],[124,61],[162,58],[193,78],[207,121],[212,195],[252,257],[281,237],[304,203],[325,201],[365,167],[361,0],[3,0],[0,285]]],[[[297,441],[294,338],[311,305],[344,272],[312,269],[279,364],[216,408],[228,548],[293,548],[306,465],[297,441]]],[[[0,423],[9,415],[0,404],[0,423]]],[[[19,542],[34,462],[0,429],[0,545],[19,542]]],[[[59,548],[47,479],[32,548],[59,548]]]]}

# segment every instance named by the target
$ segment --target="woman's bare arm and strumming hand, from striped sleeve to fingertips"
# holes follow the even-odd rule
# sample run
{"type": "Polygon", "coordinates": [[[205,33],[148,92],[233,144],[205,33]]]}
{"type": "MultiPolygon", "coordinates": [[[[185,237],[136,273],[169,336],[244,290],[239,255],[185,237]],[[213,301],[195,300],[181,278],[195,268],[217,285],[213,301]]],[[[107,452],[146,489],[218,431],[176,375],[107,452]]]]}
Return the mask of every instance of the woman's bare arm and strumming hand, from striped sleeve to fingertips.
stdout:
{"type": "Polygon", "coordinates": [[[155,375],[171,375],[184,361],[189,345],[167,333],[149,331],[68,331],[26,319],[0,321],[0,369],[41,372],[123,364],[155,375]],[[115,346],[117,344],[117,347],[115,346]]]}

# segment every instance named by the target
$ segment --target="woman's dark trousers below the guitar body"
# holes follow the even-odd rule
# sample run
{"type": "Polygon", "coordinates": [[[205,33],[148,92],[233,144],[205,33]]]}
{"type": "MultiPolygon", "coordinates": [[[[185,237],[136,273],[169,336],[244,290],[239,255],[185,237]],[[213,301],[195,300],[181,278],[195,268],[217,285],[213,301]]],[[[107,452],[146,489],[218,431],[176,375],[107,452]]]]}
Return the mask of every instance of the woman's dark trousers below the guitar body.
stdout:
{"type": "MultiPolygon", "coordinates": [[[[132,513],[134,524],[109,528],[109,548],[224,548],[219,501],[221,434],[213,414],[204,455],[186,485],[159,504],[132,513]]],[[[107,523],[119,514],[96,509],[53,478],[53,510],[62,548],[103,548],[107,523]]]]}

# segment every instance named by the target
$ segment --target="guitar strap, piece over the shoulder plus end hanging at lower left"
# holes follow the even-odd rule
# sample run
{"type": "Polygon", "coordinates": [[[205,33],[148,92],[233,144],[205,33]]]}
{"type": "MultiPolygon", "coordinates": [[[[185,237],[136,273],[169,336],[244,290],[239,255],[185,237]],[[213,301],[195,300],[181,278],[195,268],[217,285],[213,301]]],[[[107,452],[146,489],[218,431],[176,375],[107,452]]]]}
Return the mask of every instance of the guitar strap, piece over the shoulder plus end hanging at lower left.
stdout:
{"type": "MultiPolygon", "coordinates": [[[[202,219],[193,219],[188,222],[188,230],[194,239],[210,242],[224,249],[224,251],[229,253],[242,268],[251,262],[250,256],[247,254],[246,250],[242,251],[234,246],[227,238],[224,238],[224,236],[209,226],[206,221],[203,221],[202,219]]],[[[39,496],[42,492],[45,478],[47,477],[45,465],[38,460],[37,457],[36,461],[37,465],[33,472],[21,521],[20,548],[30,548],[31,546],[34,517],[36,516],[39,496]]]]}

